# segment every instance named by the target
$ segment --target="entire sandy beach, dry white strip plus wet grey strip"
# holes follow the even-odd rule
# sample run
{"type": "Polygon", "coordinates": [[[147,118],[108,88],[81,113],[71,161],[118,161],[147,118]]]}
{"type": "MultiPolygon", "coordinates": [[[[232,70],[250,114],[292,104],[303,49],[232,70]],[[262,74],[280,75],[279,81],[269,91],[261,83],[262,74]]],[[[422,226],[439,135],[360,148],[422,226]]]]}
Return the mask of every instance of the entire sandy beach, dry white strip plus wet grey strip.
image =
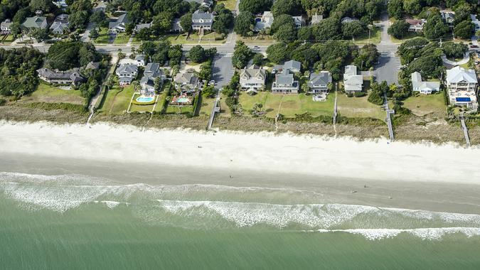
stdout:
{"type": "Polygon", "coordinates": [[[127,185],[287,188],[314,194],[289,198],[292,204],[480,214],[480,149],[454,144],[3,122],[0,149],[0,171],[87,174],[127,185]]]}

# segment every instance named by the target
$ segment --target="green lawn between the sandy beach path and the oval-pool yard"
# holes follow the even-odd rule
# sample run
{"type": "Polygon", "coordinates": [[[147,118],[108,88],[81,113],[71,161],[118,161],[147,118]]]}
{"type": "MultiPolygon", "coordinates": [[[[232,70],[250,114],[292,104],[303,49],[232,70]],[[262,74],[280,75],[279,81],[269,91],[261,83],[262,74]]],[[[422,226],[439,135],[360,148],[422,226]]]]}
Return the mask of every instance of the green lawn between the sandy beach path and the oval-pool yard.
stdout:
{"type": "Polygon", "coordinates": [[[100,112],[106,114],[124,114],[127,112],[133,93],[132,85],[128,85],[127,87],[115,85],[112,89],[108,90],[100,112]]]}

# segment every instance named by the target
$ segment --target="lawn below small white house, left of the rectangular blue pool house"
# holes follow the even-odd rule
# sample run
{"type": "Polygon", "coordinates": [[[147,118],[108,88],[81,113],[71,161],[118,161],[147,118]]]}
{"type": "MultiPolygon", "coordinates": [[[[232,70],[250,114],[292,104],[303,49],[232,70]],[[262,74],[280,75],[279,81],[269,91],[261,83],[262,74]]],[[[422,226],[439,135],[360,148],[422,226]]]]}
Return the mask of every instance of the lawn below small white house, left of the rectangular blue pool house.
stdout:
{"type": "Polygon", "coordinates": [[[413,114],[420,117],[425,114],[431,114],[432,112],[447,114],[443,92],[432,95],[409,97],[405,99],[403,103],[403,107],[410,109],[413,114]]]}

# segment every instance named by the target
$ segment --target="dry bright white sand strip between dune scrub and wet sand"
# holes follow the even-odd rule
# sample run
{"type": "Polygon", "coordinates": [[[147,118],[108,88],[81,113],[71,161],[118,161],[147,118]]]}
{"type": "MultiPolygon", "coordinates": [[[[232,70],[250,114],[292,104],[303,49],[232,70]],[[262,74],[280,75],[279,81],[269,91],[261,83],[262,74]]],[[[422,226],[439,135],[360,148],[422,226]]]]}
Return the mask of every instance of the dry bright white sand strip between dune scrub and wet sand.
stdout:
{"type": "Polygon", "coordinates": [[[480,148],[387,139],[0,121],[0,148],[92,161],[249,170],[358,180],[480,184],[480,148]]]}

